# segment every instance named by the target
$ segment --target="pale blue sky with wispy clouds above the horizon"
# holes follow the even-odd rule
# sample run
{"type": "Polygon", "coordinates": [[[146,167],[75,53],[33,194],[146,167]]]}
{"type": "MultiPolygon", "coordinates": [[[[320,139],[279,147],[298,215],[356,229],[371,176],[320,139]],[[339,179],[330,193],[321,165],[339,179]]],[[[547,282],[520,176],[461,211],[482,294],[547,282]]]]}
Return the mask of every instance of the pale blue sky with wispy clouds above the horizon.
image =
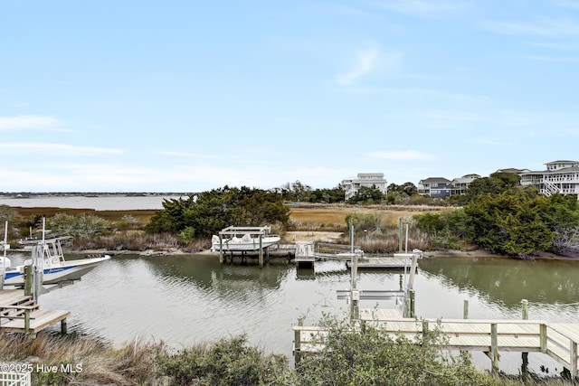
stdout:
{"type": "Polygon", "coordinates": [[[579,0],[0,0],[0,192],[579,159],[579,0]]]}

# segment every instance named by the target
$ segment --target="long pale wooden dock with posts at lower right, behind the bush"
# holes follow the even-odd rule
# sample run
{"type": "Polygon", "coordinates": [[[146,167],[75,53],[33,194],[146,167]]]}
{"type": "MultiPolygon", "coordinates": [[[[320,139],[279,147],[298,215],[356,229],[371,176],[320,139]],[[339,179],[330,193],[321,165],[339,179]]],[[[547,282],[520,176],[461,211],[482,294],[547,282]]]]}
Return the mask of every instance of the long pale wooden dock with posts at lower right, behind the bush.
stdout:
{"type": "MultiPolygon", "coordinates": [[[[387,334],[403,334],[416,340],[421,334],[437,330],[445,338],[442,348],[487,353],[493,371],[498,371],[498,353],[545,353],[579,376],[577,362],[579,324],[548,323],[539,320],[413,319],[380,310],[360,310],[360,317],[387,334]]],[[[323,348],[323,328],[294,326],[294,356],[318,353],[323,348]]]]}

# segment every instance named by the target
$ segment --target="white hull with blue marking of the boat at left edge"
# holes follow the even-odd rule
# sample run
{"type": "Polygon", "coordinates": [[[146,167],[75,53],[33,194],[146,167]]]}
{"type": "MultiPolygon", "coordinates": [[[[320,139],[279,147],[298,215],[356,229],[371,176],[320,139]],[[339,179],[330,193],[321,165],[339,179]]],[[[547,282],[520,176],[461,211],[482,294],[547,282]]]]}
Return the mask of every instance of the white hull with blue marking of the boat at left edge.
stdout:
{"type": "MultiPolygon", "coordinates": [[[[62,281],[79,280],[83,275],[90,272],[102,261],[110,259],[110,256],[104,255],[98,258],[68,260],[62,262],[59,266],[44,268],[43,284],[58,284],[62,281]]],[[[5,272],[4,285],[14,287],[24,287],[24,267],[20,266],[5,272]]]]}

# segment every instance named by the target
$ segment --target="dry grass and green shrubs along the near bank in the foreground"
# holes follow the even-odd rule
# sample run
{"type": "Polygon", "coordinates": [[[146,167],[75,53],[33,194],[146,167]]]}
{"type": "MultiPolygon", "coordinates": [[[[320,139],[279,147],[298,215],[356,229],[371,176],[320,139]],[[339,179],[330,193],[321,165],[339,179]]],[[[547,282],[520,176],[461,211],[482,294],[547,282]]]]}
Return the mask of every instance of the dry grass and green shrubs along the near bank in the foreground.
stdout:
{"type": "Polygon", "coordinates": [[[175,350],[163,342],[139,339],[113,348],[88,336],[0,334],[0,362],[32,365],[33,385],[574,384],[533,373],[524,379],[492,377],[472,367],[467,356],[444,360],[435,336],[415,345],[390,339],[371,327],[356,333],[349,325],[327,327],[331,331],[327,350],[316,358],[306,357],[296,369],[285,356],[247,344],[244,335],[175,350]],[[76,371],[63,372],[61,366],[67,364],[76,371]],[[61,370],[42,372],[39,366],[61,370]]]}

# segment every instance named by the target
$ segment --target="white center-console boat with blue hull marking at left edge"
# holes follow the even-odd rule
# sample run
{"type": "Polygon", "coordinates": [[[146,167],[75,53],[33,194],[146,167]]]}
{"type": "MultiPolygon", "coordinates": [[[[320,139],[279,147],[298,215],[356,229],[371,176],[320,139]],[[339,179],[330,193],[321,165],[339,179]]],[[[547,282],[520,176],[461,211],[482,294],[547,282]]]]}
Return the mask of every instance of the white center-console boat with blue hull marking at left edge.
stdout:
{"type": "Polygon", "coordinates": [[[27,265],[35,265],[36,272],[42,272],[42,283],[48,285],[78,280],[101,262],[110,259],[109,255],[90,255],[85,259],[65,260],[61,240],[67,239],[71,237],[21,240],[24,246],[32,247],[33,259],[13,268],[10,259],[0,258],[0,268],[4,267],[5,270],[4,285],[24,287],[24,266],[27,265]]]}

